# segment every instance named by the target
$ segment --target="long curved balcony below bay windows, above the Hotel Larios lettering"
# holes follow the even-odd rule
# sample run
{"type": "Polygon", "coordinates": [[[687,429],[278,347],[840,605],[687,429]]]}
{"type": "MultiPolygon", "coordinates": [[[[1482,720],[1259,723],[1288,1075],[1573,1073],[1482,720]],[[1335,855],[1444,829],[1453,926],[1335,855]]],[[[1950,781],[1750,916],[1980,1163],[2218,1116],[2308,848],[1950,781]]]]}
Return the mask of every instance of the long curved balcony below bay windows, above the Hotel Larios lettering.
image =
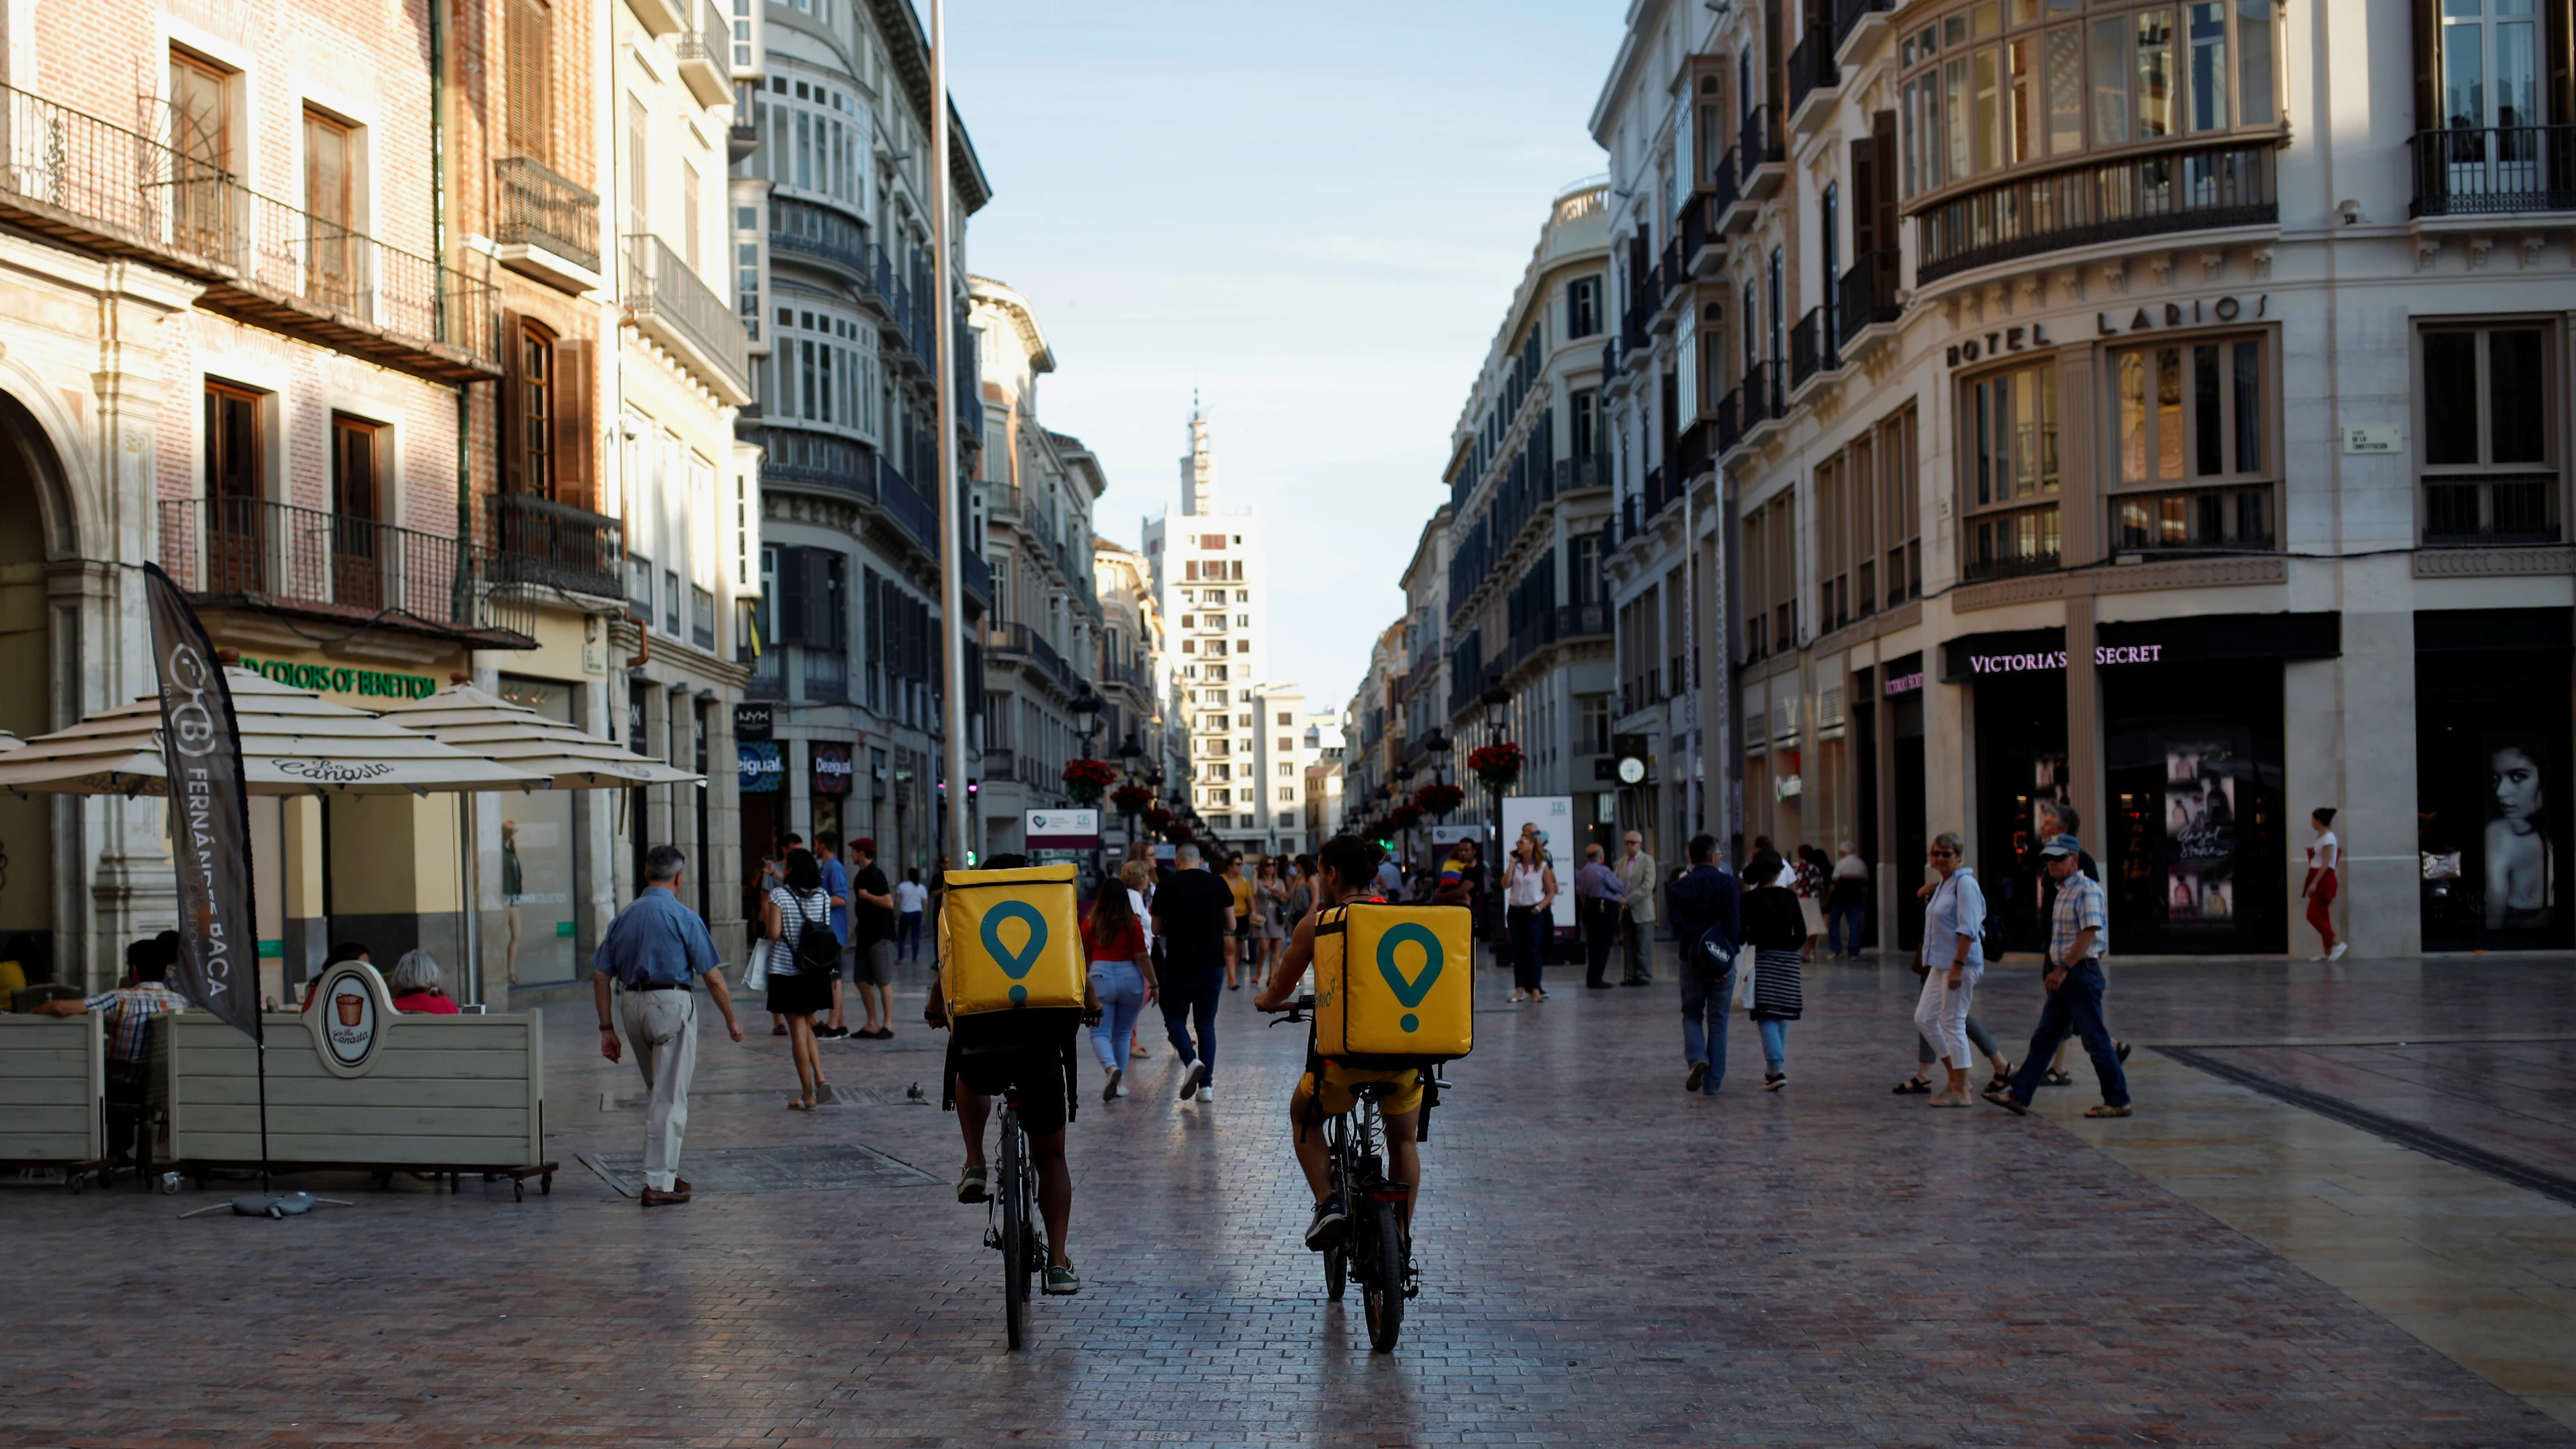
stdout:
{"type": "Polygon", "coordinates": [[[2120,157],[2002,180],[1924,208],[1914,283],[2063,247],[2277,221],[2272,142],[2120,157]]]}

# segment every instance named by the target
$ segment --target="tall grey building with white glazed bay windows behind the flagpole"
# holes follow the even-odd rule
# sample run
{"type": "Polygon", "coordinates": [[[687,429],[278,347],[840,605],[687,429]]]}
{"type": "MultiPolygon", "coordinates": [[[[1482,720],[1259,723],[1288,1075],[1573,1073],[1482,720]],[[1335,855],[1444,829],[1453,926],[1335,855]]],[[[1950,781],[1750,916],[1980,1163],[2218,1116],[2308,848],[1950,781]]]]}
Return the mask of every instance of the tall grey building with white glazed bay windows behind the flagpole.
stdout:
{"type": "MultiPolygon", "coordinates": [[[[760,10],[729,232],[760,394],[739,435],[760,448],[760,479],[726,502],[762,528],[747,731],[724,752],[742,788],[737,854],[752,865],[786,831],[837,831],[876,839],[889,870],[927,875],[945,852],[930,51],[909,5],[760,10]]],[[[963,278],[966,219],[992,188],[963,121],[948,126],[963,278]]],[[[971,456],[984,430],[958,286],[958,445],[971,456]]],[[[966,522],[963,538],[974,625],[992,574],[981,530],[966,522]]],[[[981,672],[969,643],[974,690],[981,672]]]]}

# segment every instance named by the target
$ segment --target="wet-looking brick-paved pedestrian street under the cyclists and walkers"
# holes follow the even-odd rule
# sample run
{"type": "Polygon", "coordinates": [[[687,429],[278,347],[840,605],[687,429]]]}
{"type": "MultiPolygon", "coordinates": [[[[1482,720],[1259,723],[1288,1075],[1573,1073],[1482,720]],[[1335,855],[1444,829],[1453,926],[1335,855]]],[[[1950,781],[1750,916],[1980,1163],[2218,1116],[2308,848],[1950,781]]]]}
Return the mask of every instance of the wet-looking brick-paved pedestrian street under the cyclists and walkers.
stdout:
{"type": "MultiPolygon", "coordinates": [[[[2112,1017],[2141,1042],[2576,1037],[2566,973],[2115,968],[2112,1017]]],[[[2123,1166],[2123,1130],[2169,1143],[2200,1112],[2179,1089],[2084,1135],[1927,1112],[1888,1094],[1914,978],[1870,965],[1808,973],[1788,1091],[1757,1089],[1739,1019],[1726,1091],[1692,1099],[1669,983],[1558,975],[1528,1009],[1481,983],[1476,1055],[1425,1148],[1425,1292],[1391,1356],[1296,1246],[1301,1040],[1257,1029],[1249,993],[1224,1006],[1213,1107],[1172,1102],[1159,1042],[1131,1099],[1084,1102],[1084,1289],[1033,1305],[1023,1354],[1002,1349],[984,1212],[945,1186],[956,1130],[902,1104],[912,1081],[938,1094],[940,1037],[904,1019],[894,1042],[827,1045],[868,1091],[811,1117],[783,1112],[783,1040],[706,1037],[690,1148],[804,1150],[708,1158],[737,1192],[641,1212],[574,1163],[639,1150],[644,1125],[634,1068],[592,1055],[577,1004],[549,1011],[567,1171],[544,1199],[348,1181],[355,1207],[301,1220],[173,1223],[214,1194],[0,1192],[21,1264],[0,1444],[2576,1444],[2123,1166]],[[835,1145],[938,1181],[829,1179],[835,1145]],[[848,1186],[804,1186],[824,1179],[848,1186]]],[[[2012,1055],[2035,999],[2027,970],[1981,991],[2012,1055]]],[[[2154,1060],[2154,1081],[2208,1081],[2154,1060]]],[[[2555,1091],[2563,1055],[2540,1060],[2532,1091],[2555,1091]]],[[[2264,1071],[2308,1068],[2272,1053],[2264,1071]]],[[[2089,1094],[2045,1102],[2063,1117],[2089,1094]]],[[[2275,1104],[2205,1132],[2306,1117],[2275,1104]]],[[[2530,1271],[2576,1292],[2566,1253],[2530,1271]]]]}

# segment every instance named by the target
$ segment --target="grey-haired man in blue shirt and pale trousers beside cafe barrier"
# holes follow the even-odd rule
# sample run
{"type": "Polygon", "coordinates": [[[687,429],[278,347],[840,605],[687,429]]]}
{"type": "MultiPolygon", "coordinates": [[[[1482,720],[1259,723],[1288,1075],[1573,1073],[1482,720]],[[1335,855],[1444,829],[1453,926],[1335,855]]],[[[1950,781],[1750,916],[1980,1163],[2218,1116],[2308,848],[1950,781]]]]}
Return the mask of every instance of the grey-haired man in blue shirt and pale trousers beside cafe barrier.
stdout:
{"type": "Polygon", "coordinates": [[[590,952],[598,975],[590,978],[600,1006],[600,1055],[618,1060],[618,1027],[636,1048],[636,1066],[652,1091],[644,1117],[644,1207],[688,1202],[680,1176],[680,1135],[688,1130],[688,1078],[698,1071],[698,999],[690,986],[703,975],[706,993],[724,1011],[724,1029],[742,1040],[734,999],[724,991],[724,965],[706,921],[680,903],[680,872],[688,857],[675,844],[644,852],[644,888],[631,906],[608,921],[600,950],[590,952]],[[618,1011],[608,1014],[608,983],[616,983],[618,1011]]]}

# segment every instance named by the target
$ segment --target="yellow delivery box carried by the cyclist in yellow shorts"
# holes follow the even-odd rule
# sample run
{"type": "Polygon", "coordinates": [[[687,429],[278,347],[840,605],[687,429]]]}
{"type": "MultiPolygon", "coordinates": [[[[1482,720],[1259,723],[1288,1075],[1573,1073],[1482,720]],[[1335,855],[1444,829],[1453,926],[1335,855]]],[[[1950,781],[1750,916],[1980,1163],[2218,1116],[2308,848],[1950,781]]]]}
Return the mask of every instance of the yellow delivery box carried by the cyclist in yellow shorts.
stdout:
{"type": "Polygon", "coordinates": [[[1466,906],[1327,906],[1314,916],[1314,1050],[1355,1068],[1463,1058],[1476,1045],[1466,906]]]}

